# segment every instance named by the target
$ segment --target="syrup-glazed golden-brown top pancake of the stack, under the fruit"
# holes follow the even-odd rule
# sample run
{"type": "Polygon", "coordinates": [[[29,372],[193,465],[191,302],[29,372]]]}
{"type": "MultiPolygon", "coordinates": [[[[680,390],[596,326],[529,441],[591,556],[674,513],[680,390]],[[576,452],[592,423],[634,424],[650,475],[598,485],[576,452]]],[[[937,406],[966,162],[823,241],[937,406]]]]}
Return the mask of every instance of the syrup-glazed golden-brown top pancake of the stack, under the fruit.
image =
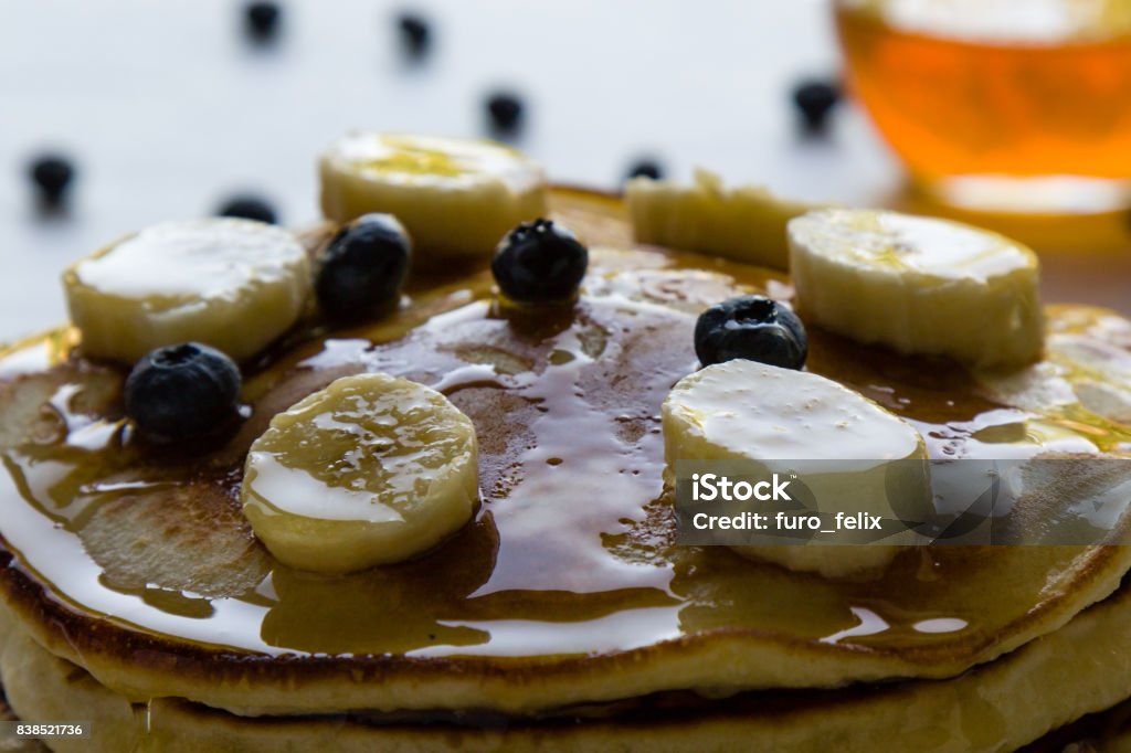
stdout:
{"type": "MultiPolygon", "coordinates": [[[[560,191],[555,206],[590,246],[631,248],[615,200],[560,191]]],[[[196,455],[123,432],[123,372],[69,354],[72,334],[17,346],[0,360],[0,594],[49,650],[138,699],[538,712],[950,676],[1115,589],[1128,547],[920,547],[878,580],[830,582],[676,546],[659,405],[697,365],[694,315],[746,291],[789,294],[780,276],[657,249],[595,249],[560,317],[497,310],[482,271],[417,282],[394,318],[277,348],[245,384],[239,435],[196,455]],[[472,417],[482,510],[413,562],[292,571],[239,512],[247,447],[275,413],[362,370],[432,384],[472,417]]],[[[1121,425],[1041,396],[1056,380],[1124,389],[1061,362],[1081,348],[1131,357],[1131,323],[1082,308],[1050,320],[1050,361],[988,387],[820,331],[810,369],[912,421],[936,457],[1122,451],[1121,425]]]]}

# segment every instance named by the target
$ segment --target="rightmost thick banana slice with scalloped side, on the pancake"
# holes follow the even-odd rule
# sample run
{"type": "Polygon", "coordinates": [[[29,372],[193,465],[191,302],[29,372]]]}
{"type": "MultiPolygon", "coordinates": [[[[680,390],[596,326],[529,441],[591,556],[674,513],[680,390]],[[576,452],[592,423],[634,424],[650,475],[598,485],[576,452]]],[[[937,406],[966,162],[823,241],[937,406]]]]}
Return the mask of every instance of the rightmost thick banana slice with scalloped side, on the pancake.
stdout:
{"type": "Polygon", "coordinates": [[[802,315],[862,343],[984,369],[1041,356],[1037,257],[996,233],[827,209],[789,222],[789,265],[802,315]]]}

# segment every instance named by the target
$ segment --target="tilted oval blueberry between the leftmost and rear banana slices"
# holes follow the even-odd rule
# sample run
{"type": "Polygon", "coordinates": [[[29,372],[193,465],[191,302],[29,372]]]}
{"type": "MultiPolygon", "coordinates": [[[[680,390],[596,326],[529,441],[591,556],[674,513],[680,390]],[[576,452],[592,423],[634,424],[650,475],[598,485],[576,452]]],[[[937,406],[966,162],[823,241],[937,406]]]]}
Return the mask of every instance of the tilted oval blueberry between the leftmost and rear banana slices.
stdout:
{"type": "Polygon", "coordinates": [[[362,215],[335,235],[321,254],[314,292],[322,312],[361,320],[397,304],[413,245],[392,215],[362,215]]]}

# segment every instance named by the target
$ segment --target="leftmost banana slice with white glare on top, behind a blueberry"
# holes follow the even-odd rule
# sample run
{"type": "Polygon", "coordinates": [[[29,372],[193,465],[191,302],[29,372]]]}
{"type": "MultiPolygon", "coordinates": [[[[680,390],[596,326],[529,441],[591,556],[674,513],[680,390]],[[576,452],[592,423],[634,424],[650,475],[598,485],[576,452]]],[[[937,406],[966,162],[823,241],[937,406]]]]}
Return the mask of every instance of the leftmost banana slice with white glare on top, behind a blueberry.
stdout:
{"type": "Polygon", "coordinates": [[[310,268],[285,230],[211,218],[127,236],[67,269],[63,286],[90,355],[132,363],[197,341],[241,361],[297,320],[310,268]]]}

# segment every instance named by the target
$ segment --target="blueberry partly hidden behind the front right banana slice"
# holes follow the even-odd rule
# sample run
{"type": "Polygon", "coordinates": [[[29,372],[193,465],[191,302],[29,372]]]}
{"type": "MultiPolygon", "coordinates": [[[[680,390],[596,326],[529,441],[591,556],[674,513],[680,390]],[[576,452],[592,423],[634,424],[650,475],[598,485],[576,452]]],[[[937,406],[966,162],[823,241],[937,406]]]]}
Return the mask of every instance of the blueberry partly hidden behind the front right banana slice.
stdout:
{"type": "Polygon", "coordinates": [[[696,355],[705,366],[746,358],[801,369],[809,355],[809,338],[805,326],[787,306],[762,295],[743,295],[699,314],[696,355]]]}

